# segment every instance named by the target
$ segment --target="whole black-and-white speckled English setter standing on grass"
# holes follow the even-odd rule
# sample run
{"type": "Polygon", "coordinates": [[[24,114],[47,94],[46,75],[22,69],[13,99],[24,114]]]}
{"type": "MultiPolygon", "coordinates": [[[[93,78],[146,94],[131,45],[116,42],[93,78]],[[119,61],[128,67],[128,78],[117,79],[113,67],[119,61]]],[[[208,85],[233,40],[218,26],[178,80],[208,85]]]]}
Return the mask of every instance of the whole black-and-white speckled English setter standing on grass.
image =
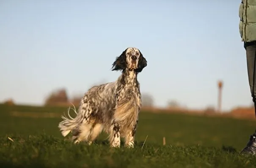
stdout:
{"type": "Polygon", "coordinates": [[[104,130],[109,134],[111,147],[120,147],[120,137],[125,138],[125,146],[134,147],[141,107],[137,75],[147,61],[139,49],[129,47],[112,65],[112,70],[122,71],[118,79],[88,89],[75,118],[61,116],[63,121],[58,125],[61,134],[65,137],[71,131],[75,144],[80,141],[91,144],[104,130]]]}

